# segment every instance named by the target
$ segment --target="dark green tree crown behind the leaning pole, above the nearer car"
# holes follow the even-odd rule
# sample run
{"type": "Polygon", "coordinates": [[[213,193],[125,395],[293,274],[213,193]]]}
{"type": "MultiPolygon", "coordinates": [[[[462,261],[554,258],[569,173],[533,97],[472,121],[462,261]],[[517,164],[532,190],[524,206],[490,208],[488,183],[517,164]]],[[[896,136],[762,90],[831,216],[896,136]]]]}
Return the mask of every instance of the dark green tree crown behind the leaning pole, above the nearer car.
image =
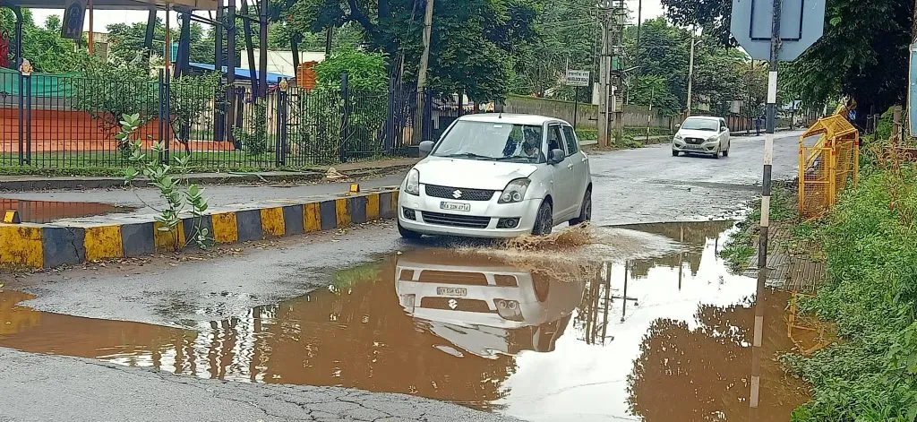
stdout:
{"type": "MultiPolygon", "coordinates": [[[[291,25],[320,32],[359,26],[368,50],[395,59],[390,70],[415,80],[423,51],[424,2],[414,0],[298,0],[291,25]]],[[[428,80],[443,92],[465,91],[472,100],[500,99],[509,90],[509,53],[534,36],[535,5],[529,0],[441,0],[436,2],[428,80]]]]}

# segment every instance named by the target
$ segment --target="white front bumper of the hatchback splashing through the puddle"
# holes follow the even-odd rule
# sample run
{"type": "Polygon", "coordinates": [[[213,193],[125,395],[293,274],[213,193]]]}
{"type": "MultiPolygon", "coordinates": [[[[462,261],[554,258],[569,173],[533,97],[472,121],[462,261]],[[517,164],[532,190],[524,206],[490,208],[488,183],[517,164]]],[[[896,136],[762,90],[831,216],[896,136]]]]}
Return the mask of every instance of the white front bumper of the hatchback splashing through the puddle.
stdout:
{"type": "Polygon", "coordinates": [[[437,198],[427,196],[423,187],[421,194],[399,194],[398,195],[398,222],[403,228],[415,231],[425,235],[444,235],[459,236],[468,238],[485,238],[485,239],[511,239],[522,235],[532,233],[535,227],[538,207],[541,206],[541,199],[526,199],[516,204],[498,204],[497,195],[490,201],[450,201],[447,198],[437,198]],[[470,204],[470,211],[447,211],[440,207],[442,202],[458,202],[470,204]],[[406,209],[414,210],[414,219],[405,216],[406,209]],[[448,219],[475,218],[481,221],[487,218],[486,227],[462,227],[460,224],[443,223],[440,218],[432,216],[425,217],[427,213],[436,215],[446,215],[448,219]],[[501,218],[518,218],[519,222],[514,228],[497,228],[501,218]]]}

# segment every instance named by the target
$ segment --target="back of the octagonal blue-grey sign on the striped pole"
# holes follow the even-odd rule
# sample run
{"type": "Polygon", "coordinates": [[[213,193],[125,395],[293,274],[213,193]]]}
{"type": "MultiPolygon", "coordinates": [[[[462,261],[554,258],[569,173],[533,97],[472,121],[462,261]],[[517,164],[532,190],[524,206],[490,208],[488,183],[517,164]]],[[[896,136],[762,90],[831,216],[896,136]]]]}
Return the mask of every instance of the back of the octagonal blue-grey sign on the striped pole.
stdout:
{"type": "MultiPolygon", "coordinates": [[[[780,61],[794,61],[824,34],[825,0],[783,0],[780,61]]],[[[770,60],[773,0],[733,0],[732,32],[752,59],[770,60]]]]}

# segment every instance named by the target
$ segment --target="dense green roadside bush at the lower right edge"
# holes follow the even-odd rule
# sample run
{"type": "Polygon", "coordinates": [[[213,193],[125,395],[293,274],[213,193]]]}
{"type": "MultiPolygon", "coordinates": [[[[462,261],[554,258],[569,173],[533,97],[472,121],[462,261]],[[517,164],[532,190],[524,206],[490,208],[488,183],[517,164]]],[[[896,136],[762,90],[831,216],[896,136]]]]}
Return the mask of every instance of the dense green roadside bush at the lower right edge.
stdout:
{"type": "MultiPolygon", "coordinates": [[[[917,416],[917,169],[878,167],[814,228],[827,280],[801,311],[836,324],[839,341],[782,361],[812,383],[796,422],[913,421],[917,416]]],[[[807,228],[808,229],[808,228],[807,228]]]]}

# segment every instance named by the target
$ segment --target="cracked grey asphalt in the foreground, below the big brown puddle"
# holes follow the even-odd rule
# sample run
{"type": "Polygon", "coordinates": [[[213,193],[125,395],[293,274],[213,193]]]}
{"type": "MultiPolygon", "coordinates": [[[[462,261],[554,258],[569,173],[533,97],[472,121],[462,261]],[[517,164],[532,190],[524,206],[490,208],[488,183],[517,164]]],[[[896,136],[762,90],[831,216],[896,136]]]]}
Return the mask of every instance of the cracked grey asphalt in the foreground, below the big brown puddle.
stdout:
{"type": "Polygon", "coordinates": [[[518,420],[405,394],[202,380],[9,349],[0,362],[3,422],[518,420]]]}

